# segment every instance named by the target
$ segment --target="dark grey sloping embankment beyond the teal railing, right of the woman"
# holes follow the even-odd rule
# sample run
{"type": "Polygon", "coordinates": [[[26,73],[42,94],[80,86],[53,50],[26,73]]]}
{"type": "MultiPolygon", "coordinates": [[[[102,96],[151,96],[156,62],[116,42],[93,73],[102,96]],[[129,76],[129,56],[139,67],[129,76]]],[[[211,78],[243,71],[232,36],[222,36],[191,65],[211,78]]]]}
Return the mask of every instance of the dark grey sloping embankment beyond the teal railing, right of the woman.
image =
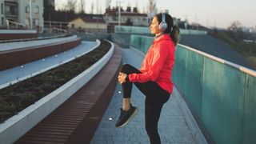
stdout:
{"type": "Polygon", "coordinates": [[[256,61],[249,62],[248,59],[244,57],[244,54],[235,50],[228,42],[224,42],[212,35],[182,34],[180,43],[201,50],[207,54],[212,54],[218,58],[256,70],[256,61]],[[253,65],[253,63],[255,65],[253,65]]]}

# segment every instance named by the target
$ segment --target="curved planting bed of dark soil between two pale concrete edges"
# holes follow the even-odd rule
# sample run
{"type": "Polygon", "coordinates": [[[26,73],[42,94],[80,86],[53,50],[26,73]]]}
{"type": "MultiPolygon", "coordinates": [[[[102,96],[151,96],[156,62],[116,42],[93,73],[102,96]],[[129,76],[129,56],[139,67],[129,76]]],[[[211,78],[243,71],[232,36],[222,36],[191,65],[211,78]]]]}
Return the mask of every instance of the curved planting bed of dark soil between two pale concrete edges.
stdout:
{"type": "Polygon", "coordinates": [[[102,58],[110,46],[110,42],[101,40],[98,48],[80,58],[0,90],[0,123],[81,74],[102,58]]]}

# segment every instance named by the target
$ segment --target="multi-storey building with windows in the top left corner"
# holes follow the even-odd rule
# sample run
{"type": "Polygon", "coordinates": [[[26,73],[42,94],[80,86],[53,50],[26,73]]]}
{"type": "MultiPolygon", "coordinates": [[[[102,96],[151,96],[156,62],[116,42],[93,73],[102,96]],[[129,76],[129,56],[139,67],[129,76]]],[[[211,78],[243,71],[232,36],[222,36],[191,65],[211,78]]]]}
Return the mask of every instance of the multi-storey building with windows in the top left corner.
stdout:
{"type": "Polygon", "coordinates": [[[42,0],[0,0],[0,7],[2,28],[42,31],[44,9],[42,0]]]}

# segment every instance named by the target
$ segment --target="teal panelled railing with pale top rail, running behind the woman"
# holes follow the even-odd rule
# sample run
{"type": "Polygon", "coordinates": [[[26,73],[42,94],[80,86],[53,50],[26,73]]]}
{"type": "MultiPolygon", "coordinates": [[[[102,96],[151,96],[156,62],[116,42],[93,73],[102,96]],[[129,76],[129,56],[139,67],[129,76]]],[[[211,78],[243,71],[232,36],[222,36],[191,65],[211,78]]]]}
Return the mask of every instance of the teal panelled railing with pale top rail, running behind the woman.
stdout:
{"type": "MultiPolygon", "coordinates": [[[[153,38],[131,35],[130,46],[146,54],[153,38]]],[[[256,142],[256,72],[178,45],[175,86],[215,143],[256,142]]]]}

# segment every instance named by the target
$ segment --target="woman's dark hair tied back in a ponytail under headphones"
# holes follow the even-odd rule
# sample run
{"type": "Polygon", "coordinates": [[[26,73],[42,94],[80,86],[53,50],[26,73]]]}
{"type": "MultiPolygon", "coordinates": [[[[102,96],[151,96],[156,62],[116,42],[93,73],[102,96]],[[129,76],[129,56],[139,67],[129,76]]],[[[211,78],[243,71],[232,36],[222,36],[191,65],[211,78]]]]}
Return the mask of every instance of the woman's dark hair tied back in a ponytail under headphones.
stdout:
{"type": "MultiPolygon", "coordinates": [[[[155,17],[158,19],[158,24],[162,22],[162,13],[156,14],[155,17]]],[[[179,29],[178,26],[174,25],[174,19],[170,14],[166,14],[166,24],[167,29],[164,31],[166,34],[170,34],[170,38],[173,40],[174,45],[176,46],[179,41],[179,29]]]]}

